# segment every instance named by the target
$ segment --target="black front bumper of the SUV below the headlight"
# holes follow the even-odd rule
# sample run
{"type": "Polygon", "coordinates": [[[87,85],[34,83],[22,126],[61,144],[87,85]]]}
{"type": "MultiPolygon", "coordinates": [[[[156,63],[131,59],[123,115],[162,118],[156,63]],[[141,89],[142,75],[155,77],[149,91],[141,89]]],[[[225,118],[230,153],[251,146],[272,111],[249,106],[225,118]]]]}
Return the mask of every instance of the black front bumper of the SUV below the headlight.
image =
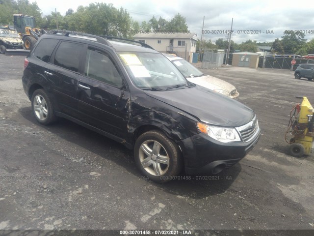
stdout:
{"type": "Polygon", "coordinates": [[[180,141],[185,173],[217,174],[224,168],[235,165],[259,141],[261,130],[249,142],[221,143],[204,133],[180,141]]]}

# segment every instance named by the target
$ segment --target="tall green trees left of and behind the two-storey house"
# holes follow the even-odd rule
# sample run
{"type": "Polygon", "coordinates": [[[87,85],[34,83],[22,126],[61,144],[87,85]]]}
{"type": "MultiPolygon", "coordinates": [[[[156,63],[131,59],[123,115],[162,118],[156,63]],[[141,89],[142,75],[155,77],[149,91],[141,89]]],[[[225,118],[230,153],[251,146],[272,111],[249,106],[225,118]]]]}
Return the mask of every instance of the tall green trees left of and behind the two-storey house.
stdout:
{"type": "Polygon", "coordinates": [[[115,8],[113,4],[90,3],[87,6],[78,6],[78,9],[68,9],[65,15],[60,12],[42,16],[42,12],[36,2],[28,0],[0,0],[0,23],[13,25],[13,14],[34,16],[36,27],[41,29],[61,29],[86,32],[91,34],[110,35],[131,38],[132,32],[169,30],[187,31],[185,17],[179,13],[170,21],[160,17],[152,17],[148,22],[141,25],[134,21],[126,9],[115,8]]]}

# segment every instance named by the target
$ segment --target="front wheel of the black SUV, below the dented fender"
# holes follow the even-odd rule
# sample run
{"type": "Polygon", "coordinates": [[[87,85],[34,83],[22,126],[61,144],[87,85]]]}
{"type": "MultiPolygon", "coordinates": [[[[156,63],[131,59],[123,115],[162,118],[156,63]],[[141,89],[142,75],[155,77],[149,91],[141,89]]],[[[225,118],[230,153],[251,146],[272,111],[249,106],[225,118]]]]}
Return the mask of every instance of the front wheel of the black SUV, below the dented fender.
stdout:
{"type": "Polygon", "coordinates": [[[158,183],[173,179],[183,166],[178,146],[157,130],[145,132],[136,140],[134,159],[143,175],[158,183]]]}

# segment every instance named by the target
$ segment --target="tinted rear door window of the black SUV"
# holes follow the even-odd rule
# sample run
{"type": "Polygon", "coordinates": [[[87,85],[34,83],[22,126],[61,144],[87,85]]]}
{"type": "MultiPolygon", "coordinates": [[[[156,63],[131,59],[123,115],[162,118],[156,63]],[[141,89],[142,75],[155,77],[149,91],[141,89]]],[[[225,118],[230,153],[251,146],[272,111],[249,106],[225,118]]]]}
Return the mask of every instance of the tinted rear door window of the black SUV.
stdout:
{"type": "Polygon", "coordinates": [[[54,55],[53,64],[78,72],[82,45],[71,42],[61,42],[54,55]]]}

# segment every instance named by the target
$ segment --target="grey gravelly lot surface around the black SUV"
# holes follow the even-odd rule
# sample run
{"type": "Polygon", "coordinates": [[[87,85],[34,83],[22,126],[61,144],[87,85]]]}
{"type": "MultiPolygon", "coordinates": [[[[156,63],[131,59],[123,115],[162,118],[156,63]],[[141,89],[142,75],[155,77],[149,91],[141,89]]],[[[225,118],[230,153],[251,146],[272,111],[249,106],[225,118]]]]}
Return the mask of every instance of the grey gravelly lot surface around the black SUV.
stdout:
{"type": "Polygon", "coordinates": [[[156,184],[119,143],[67,120],[39,125],[23,63],[0,55],[0,229],[314,229],[314,157],[289,156],[284,141],[295,96],[314,104],[314,82],[289,70],[203,70],[235,85],[261,139],[219,179],[156,184]]]}

